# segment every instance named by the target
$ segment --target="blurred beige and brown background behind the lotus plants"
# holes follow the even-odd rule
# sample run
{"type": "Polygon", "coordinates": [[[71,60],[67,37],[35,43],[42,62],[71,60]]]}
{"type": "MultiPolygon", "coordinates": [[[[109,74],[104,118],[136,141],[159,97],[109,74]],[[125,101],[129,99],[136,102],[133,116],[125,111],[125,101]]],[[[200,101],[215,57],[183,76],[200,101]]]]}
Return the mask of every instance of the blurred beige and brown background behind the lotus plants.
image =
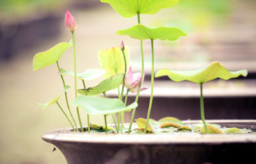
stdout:
{"type": "MultiPolygon", "coordinates": [[[[156,70],[196,69],[220,61],[228,70],[247,69],[247,78],[215,80],[205,84],[206,119],[256,119],[256,1],[254,0],[180,0],[173,8],[156,15],[141,15],[146,26],[176,26],[188,34],[177,41],[155,41],[156,70]]],[[[118,36],[118,29],[137,24],[136,17],[125,19],[109,4],[99,0],[1,0],[0,1],[0,163],[66,163],[53,145],[40,136],[54,128],[68,127],[56,105],[42,110],[45,103],[61,93],[63,87],[55,64],[33,71],[36,53],[61,41],[70,41],[64,18],[70,10],[78,29],[77,72],[99,68],[98,50],[117,47],[124,40],[131,50],[131,66],[140,71],[140,42],[118,36]]],[[[143,41],[145,83],[150,87],[150,41],[143,41]]],[[[72,48],[60,59],[60,66],[73,70],[72,48]]],[[[88,81],[95,86],[104,77],[88,81]]],[[[73,85],[72,77],[65,77],[73,85]]],[[[190,82],[171,82],[157,78],[152,118],[165,116],[200,119],[199,86],[190,82]]],[[[78,84],[82,87],[82,84],[78,84]]],[[[68,97],[74,98],[70,89],[68,97]]],[[[109,92],[109,96],[116,93],[109,92]]],[[[150,89],[141,92],[136,117],[146,117],[150,89]]],[[[134,101],[131,94],[128,102],[134,101]]],[[[63,107],[65,103],[61,99],[63,107]]],[[[75,112],[75,109],[73,108],[75,112]]],[[[81,111],[86,124],[86,114],[81,111]]],[[[129,114],[126,114],[126,119],[129,114]]],[[[103,116],[93,116],[92,123],[103,123],[103,116]],[[102,118],[101,118],[102,117],[102,118]]],[[[111,118],[109,117],[109,123],[111,118]]]]}

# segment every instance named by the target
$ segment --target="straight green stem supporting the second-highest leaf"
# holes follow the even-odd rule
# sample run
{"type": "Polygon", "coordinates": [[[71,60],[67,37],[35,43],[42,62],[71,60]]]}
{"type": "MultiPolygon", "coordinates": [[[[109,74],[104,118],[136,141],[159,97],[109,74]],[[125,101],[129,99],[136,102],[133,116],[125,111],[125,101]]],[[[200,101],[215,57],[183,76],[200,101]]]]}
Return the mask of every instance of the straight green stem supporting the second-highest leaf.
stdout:
{"type": "Polygon", "coordinates": [[[149,106],[148,106],[147,123],[146,123],[144,133],[147,132],[148,121],[149,121],[151,107],[152,107],[152,101],[153,101],[153,91],[154,91],[154,40],[151,40],[151,52],[152,52],[151,95],[150,95],[149,106]]]}

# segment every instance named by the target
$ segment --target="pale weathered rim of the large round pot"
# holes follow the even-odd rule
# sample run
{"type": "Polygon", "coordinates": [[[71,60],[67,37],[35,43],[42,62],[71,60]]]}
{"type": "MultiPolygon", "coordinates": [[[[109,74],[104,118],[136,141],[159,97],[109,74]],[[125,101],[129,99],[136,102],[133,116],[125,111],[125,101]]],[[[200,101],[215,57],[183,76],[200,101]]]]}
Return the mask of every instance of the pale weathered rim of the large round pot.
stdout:
{"type": "MultiPolygon", "coordinates": [[[[182,121],[183,123],[202,123],[200,120],[182,121]]],[[[256,120],[207,120],[207,123],[243,124],[256,128],[256,120]]],[[[231,128],[231,127],[230,127],[231,128]]],[[[42,135],[46,142],[80,142],[91,144],[228,144],[256,143],[255,134],[207,134],[207,135],[153,135],[153,134],[95,134],[77,133],[72,128],[50,130],[42,135]]]]}

